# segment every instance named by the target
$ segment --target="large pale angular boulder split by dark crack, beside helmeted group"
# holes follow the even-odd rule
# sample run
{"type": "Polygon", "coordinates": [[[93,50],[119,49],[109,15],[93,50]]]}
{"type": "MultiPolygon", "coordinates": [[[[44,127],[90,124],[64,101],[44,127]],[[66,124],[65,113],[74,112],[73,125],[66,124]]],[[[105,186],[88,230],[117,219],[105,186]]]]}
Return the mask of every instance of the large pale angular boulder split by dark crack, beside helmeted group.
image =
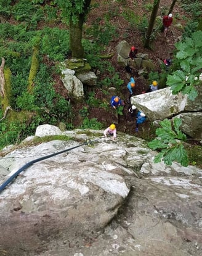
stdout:
{"type": "Polygon", "coordinates": [[[131,97],[131,104],[144,112],[150,121],[181,118],[181,130],[192,138],[202,139],[201,86],[197,90],[198,97],[194,102],[187,95],[173,95],[168,87],[131,97]]]}

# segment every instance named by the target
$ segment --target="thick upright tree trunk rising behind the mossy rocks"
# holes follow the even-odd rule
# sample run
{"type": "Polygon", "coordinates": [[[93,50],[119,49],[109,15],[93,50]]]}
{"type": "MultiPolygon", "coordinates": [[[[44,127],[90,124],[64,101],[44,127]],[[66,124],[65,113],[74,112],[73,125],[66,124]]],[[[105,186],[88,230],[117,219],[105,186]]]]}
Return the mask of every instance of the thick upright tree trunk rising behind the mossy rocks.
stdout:
{"type": "Polygon", "coordinates": [[[83,23],[84,23],[84,14],[79,14],[78,20],[76,22],[73,22],[73,20],[70,19],[71,57],[75,57],[77,59],[84,58],[84,47],[81,43],[83,23]]]}

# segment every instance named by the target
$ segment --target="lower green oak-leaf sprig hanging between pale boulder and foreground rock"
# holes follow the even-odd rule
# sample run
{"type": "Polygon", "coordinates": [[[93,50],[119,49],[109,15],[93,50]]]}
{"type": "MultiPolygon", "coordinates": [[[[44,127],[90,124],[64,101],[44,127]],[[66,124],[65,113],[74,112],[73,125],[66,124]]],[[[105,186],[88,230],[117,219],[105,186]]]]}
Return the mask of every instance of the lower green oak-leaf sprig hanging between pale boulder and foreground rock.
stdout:
{"type": "Polygon", "coordinates": [[[160,153],[155,157],[155,163],[161,162],[163,159],[166,165],[172,165],[172,162],[177,161],[187,167],[188,155],[182,144],[186,140],[186,136],[179,130],[180,125],[182,125],[182,120],[179,118],[174,118],[173,128],[168,119],[160,122],[161,128],[156,129],[158,137],[148,142],[151,149],[160,150],[160,153]]]}

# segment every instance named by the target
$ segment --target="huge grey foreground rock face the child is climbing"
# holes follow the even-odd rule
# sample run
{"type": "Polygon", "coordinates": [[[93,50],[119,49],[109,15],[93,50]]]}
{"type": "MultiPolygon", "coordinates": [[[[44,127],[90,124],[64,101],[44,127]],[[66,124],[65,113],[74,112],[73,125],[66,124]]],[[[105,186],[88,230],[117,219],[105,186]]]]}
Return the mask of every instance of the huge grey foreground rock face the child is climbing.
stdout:
{"type": "Polygon", "coordinates": [[[2,183],[31,160],[75,147],[34,163],[1,191],[1,250],[31,256],[202,254],[200,168],[156,164],[145,141],[122,133],[112,141],[102,131],[86,135],[45,125],[30,139],[47,134],[70,140],[9,148],[0,158],[2,183]],[[83,143],[87,138],[100,139],[83,143]]]}

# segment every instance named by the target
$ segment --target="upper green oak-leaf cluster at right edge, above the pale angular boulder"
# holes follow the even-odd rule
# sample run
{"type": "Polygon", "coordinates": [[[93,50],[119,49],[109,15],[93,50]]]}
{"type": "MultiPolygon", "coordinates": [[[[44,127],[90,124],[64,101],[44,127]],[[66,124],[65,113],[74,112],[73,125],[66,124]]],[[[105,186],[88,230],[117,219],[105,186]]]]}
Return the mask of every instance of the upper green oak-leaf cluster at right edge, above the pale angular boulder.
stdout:
{"type": "Polygon", "coordinates": [[[195,86],[201,82],[198,76],[201,73],[202,62],[202,31],[196,31],[192,34],[192,38],[185,38],[184,41],[176,43],[177,54],[180,70],[176,70],[172,75],[168,75],[167,85],[171,86],[172,94],[180,91],[188,94],[192,101],[198,95],[195,86]]]}

